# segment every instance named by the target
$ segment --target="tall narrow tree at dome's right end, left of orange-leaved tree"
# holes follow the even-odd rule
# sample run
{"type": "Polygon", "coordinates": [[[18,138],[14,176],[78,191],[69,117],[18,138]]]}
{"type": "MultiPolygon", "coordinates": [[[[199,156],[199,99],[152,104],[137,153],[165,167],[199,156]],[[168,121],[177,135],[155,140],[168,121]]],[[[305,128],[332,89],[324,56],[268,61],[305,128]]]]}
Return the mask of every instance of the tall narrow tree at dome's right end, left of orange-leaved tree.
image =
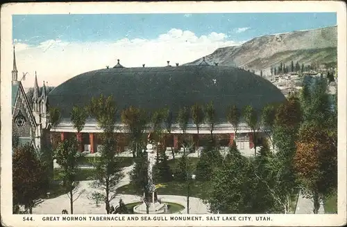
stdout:
{"type": "Polygon", "coordinates": [[[271,165],[269,177],[275,179],[273,194],[277,195],[278,204],[283,207],[282,211],[285,213],[289,210],[290,195],[298,187],[293,157],[296,151],[296,140],[301,119],[300,102],[295,96],[290,96],[276,109],[273,143],[277,152],[269,161],[269,165],[271,165]]]}

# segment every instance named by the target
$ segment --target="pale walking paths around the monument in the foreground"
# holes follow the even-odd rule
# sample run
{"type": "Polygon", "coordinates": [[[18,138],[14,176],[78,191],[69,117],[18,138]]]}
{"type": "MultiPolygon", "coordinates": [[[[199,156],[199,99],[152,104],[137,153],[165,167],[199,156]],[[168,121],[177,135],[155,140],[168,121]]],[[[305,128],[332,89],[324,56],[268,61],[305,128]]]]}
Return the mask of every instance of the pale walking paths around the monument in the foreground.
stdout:
{"type": "MultiPolygon", "coordinates": [[[[118,188],[130,183],[130,171],[133,169],[134,165],[124,167],[124,178],[119,182],[118,188]]],[[[90,186],[93,181],[80,181],[78,187],[78,192],[83,192],[81,196],[74,201],[74,214],[105,214],[105,204],[100,203],[97,205],[92,199],[92,193],[97,191],[90,186]]],[[[79,193],[76,193],[77,197],[79,193]]],[[[141,201],[141,197],[133,194],[119,194],[112,201],[112,205],[116,207],[118,205],[119,199],[122,199],[124,203],[135,203],[141,201]]],[[[177,195],[160,195],[158,194],[158,199],[162,202],[174,202],[186,207],[187,197],[177,196],[177,195]]],[[[189,199],[189,213],[191,214],[208,214],[208,207],[203,203],[201,199],[190,197],[189,199]]],[[[33,214],[43,215],[60,215],[62,210],[68,210],[70,212],[70,201],[67,194],[62,194],[59,197],[53,199],[45,199],[42,203],[38,204],[33,208],[33,214]]],[[[181,213],[187,213],[186,208],[181,211],[181,213]]]]}

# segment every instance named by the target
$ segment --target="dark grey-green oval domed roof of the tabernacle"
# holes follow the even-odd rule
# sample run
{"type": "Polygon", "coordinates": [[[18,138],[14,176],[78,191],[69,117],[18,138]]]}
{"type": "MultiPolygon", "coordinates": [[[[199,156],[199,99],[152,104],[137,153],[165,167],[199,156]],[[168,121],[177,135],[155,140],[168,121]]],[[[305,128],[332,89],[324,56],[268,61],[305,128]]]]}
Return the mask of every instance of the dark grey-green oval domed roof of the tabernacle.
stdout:
{"type": "Polygon", "coordinates": [[[225,121],[229,105],[242,109],[285,100],[268,80],[230,66],[178,66],[99,69],[76,75],[49,93],[52,107],[69,118],[74,105],[87,105],[92,97],[112,95],[118,108],[130,105],[148,111],[169,108],[174,116],[181,107],[212,101],[219,120],[225,121]]]}

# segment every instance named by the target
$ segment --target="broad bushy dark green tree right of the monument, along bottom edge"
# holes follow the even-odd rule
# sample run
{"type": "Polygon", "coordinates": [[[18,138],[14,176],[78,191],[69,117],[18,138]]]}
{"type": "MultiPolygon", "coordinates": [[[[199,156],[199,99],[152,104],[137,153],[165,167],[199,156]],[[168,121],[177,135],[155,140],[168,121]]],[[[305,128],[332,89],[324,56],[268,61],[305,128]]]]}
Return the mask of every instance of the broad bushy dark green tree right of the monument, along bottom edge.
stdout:
{"type": "Polygon", "coordinates": [[[210,204],[210,212],[254,213],[253,172],[251,161],[239,153],[234,143],[212,178],[212,190],[206,200],[210,204]]]}

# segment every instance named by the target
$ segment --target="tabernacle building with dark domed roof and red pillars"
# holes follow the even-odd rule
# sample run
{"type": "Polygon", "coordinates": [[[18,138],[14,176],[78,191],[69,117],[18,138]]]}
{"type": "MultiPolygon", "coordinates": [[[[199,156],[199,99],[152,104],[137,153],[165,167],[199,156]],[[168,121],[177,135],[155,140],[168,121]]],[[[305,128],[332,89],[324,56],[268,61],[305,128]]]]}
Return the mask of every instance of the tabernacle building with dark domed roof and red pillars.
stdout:
{"type": "MultiPolygon", "coordinates": [[[[226,120],[226,110],[230,105],[242,109],[251,105],[257,110],[269,103],[282,102],[285,96],[271,82],[242,69],[231,66],[218,66],[209,64],[205,59],[196,66],[170,66],[169,62],[164,67],[126,68],[118,63],[110,68],[89,71],[76,75],[53,89],[48,94],[50,107],[58,107],[61,111],[60,124],[51,129],[51,133],[60,134],[64,139],[76,136],[69,119],[69,114],[74,106],[84,107],[93,97],[112,95],[121,111],[129,106],[141,107],[146,111],[170,109],[174,115],[174,122],[178,110],[190,107],[195,103],[206,105],[213,102],[217,114],[215,134],[221,146],[228,146],[235,138],[234,129],[226,120]]],[[[98,134],[101,129],[94,118],[87,118],[85,127],[78,136],[83,143],[84,151],[98,152],[98,134]]],[[[121,124],[120,114],[117,122],[117,151],[126,149],[126,134],[124,125],[121,124]]],[[[203,145],[204,136],[210,134],[208,125],[201,125],[199,130],[200,145],[203,145]]],[[[196,140],[196,126],[189,122],[186,135],[193,141],[196,140]]],[[[171,133],[166,136],[167,147],[180,148],[182,131],[178,124],[172,125],[171,133]]],[[[242,122],[237,130],[237,145],[239,149],[252,149],[253,138],[251,129],[242,122]]]]}

